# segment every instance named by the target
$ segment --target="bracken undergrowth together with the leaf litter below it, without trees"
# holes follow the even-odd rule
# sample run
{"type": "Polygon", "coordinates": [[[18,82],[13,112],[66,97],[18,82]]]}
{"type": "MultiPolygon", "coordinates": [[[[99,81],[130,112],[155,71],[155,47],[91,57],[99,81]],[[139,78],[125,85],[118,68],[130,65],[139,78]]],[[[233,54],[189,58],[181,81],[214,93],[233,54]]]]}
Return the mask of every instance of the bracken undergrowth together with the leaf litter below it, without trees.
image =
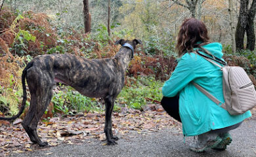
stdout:
{"type": "MultiPolygon", "coordinates": [[[[51,18],[32,11],[22,14],[2,9],[0,12],[0,116],[18,113],[22,102],[22,70],[26,64],[42,54],[75,54],[89,59],[114,56],[120,46],[118,39],[134,39],[129,30],[108,36],[106,26],[96,33],[83,33],[72,28],[53,26],[51,18]]],[[[142,41],[126,71],[125,86],[116,99],[113,113],[114,132],[119,135],[135,131],[148,133],[181,124],[169,117],[160,105],[161,86],[175,69],[175,44],[165,45],[158,38],[142,41]]],[[[224,60],[228,65],[239,65],[249,73],[256,85],[256,52],[244,50],[233,54],[230,45],[224,46],[224,60]]],[[[30,143],[20,122],[30,104],[30,92],[24,113],[12,124],[0,120],[0,156],[12,152],[38,149],[30,143]],[[11,125],[11,127],[10,127],[11,125]]],[[[252,110],[256,113],[256,109],[252,110]]],[[[253,114],[255,118],[256,114],[253,114]]],[[[92,142],[91,138],[105,140],[104,101],[85,97],[73,88],[56,84],[53,99],[39,122],[38,131],[51,146],[66,143],[92,142]]],[[[102,145],[105,145],[103,143],[102,145]]]]}

